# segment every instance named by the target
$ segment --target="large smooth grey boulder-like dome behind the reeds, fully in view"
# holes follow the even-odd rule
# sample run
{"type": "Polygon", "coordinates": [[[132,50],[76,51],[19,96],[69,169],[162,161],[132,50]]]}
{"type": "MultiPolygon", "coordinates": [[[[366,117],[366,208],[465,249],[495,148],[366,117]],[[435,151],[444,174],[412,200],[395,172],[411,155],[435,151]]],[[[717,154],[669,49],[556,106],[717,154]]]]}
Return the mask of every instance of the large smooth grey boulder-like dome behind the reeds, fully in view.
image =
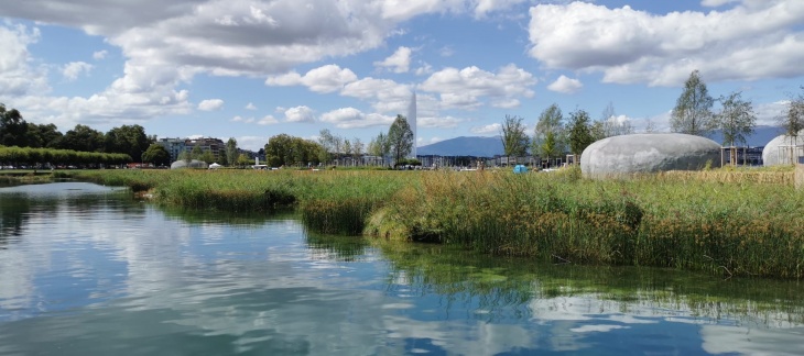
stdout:
{"type": "Polygon", "coordinates": [[[586,147],[580,171],[587,178],[617,178],[666,170],[720,167],[720,145],[677,133],[633,134],[607,137],[586,147]]]}

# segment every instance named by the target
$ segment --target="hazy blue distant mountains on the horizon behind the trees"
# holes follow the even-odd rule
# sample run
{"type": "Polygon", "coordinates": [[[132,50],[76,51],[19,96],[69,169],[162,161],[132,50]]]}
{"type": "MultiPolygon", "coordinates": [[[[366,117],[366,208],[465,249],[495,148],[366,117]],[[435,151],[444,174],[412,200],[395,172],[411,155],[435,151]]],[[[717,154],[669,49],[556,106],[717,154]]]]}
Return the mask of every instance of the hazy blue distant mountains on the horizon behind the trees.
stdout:
{"type": "MultiPolygon", "coordinates": [[[[747,137],[748,145],[751,147],[764,146],[783,132],[784,130],[776,126],[757,126],[753,130],[753,134],[747,137]]],[[[711,134],[709,138],[722,144],[722,133],[720,131],[711,134]]],[[[495,155],[502,155],[504,151],[500,136],[460,136],[417,147],[416,153],[420,156],[493,157],[495,155]]]]}

